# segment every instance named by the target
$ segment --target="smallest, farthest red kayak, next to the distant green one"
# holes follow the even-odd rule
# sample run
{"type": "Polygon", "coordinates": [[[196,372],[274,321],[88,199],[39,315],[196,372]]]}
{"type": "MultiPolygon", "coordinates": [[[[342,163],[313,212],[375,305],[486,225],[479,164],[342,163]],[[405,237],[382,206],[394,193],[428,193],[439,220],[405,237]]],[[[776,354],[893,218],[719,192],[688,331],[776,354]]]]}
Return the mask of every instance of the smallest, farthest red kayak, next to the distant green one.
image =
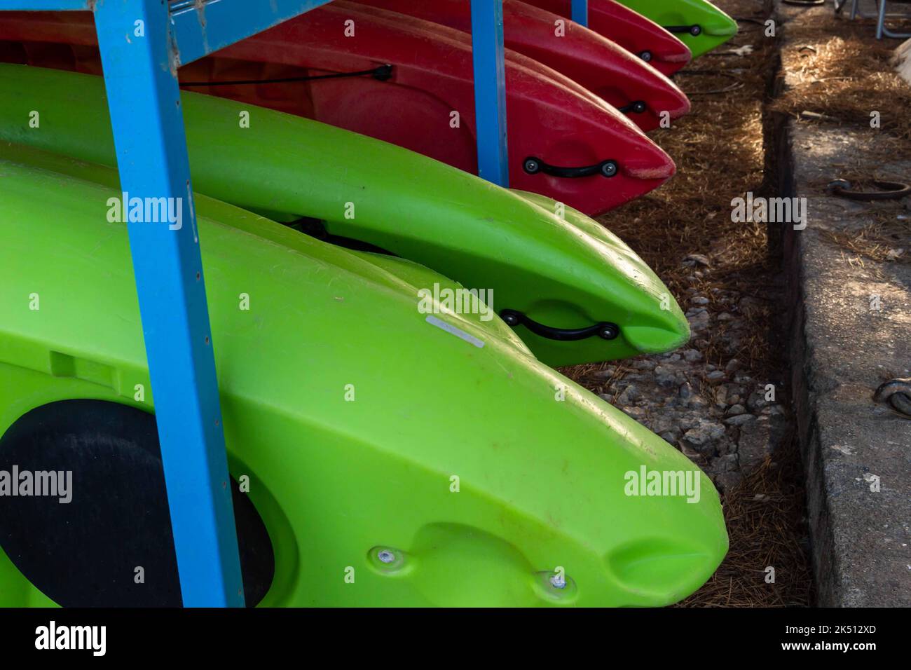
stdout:
{"type": "MultiPolygon", "coordinates": [[[[526,0],[529,5],[570,16],[572,0],[526,0]]],[[[690,48],[649,18],[615,0],[589,0],[589,28],[672,75],[692,60],[690,48]]]]}

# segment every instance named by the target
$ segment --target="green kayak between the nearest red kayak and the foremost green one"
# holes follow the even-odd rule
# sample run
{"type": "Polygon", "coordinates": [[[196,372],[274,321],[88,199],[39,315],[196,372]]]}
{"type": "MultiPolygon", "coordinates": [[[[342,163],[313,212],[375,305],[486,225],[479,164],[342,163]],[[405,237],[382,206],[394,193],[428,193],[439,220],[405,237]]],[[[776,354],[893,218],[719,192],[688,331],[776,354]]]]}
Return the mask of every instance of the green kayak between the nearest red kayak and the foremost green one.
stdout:
{"type": "MultiPolygon", "coordinates": [[[[282,222],[318,220],[333,239],[486,292],[550,366],[668,351],[689,337],[648,265],[578,211],[309,119],[181,99],[196,191],[282,222]]],[[[99,77],[0,65],[0,139],[116,163],[99,77]]]]}

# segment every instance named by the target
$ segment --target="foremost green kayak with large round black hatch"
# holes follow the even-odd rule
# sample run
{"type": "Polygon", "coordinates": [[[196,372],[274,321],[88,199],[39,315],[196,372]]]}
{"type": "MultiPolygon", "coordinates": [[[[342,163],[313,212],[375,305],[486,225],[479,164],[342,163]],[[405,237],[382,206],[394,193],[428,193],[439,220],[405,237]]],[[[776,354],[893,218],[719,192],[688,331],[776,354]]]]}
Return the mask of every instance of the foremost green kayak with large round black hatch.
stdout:
{"type": "MultiPolygon", "coordinates": [[[[80,476],[69,504],[0,496],[0,605],[86,593],[105,604],[133,588],[132,566],[146,565],[144,588],[161,579],[128,547],[152,551],[148,515],[131,504],[149,490],[160,503],[163,490],[114,476],[155,466],[114,439],[134,423],[148,434],[154,411],[136,390],[148,370],[126,226],[106,216],[120,194],[56,171],[91,165],[3,149],[0,482],[58,459],[80,476]],[[33,442],[48,421],[69,437],[46,452],[33,442]],[[107,458],[82,462],[98,450],[107,458]],[[126,499],[80,488],[99,468],[126,499]],[[88,531],[108,514],[128,523],[62,545],[51,529],[60,515],[86,522],[79,510],[88,531]],[[130,566],[128,578],[91,568],[89,589],[74,567],[82,552],[130,566]]],[[[248,482],[234,505],[245,589],[250,565],[268,568],[251,603],[663,605],[721,562],[709,479],[530,356],[496,317],[423,314],[409,280],[438,275],[202,196],[196,208],[230,472],[248,482]]]]}

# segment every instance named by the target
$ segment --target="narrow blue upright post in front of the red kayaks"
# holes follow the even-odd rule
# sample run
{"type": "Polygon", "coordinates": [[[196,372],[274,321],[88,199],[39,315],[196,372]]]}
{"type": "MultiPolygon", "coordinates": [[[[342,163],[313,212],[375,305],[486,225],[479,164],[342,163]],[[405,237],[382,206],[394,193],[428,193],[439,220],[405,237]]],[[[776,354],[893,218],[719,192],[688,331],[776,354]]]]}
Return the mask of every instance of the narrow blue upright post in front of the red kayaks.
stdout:
{"type": "Polygon", "coordinates": [[[503,0],[471,0],[471,44],[475,62],[478,174],[508,187],[503,0]]]}

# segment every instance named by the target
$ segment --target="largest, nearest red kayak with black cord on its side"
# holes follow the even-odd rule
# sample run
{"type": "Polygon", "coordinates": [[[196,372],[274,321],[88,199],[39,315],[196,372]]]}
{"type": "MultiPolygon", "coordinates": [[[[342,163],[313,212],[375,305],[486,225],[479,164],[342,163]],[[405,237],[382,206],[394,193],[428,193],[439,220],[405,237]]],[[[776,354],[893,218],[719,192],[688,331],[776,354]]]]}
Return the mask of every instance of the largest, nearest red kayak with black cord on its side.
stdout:
{"type": "MultiPolygon", "coordinates": [[[[0,39],[26,49],[19,62],[100,71],[97,50],[72,48],[96,44],[91,15],[9,12],[3,18],[0,39]],[[65,53],[63,45],[69,46],[65,53]]],[[[512,188],[597,216],[673,174],[664,151],[576,82],[515,52],[506,66],[512,188]]],[[[477,170],[470,36],[445,26],[335,2],[181,67],[180,78],[193,90],[316,119],[477,170]],[[345,36],[350,20],[353,37],[345,36]]]]}

